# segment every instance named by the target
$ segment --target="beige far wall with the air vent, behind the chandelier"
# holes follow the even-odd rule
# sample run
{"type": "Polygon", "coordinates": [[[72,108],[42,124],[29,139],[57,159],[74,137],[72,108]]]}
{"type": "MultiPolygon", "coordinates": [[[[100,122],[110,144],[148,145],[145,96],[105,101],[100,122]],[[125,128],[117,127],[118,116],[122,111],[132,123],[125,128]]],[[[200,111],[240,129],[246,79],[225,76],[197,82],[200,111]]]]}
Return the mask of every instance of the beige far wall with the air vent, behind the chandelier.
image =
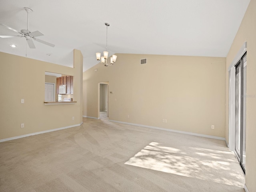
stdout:
{"type": "Polygon", "coordinates": [[[99,117],[98,83],[109,81],[110,120],[225,137],[226,58],[117,55],[84,72],[84,116],[99,117]]]}

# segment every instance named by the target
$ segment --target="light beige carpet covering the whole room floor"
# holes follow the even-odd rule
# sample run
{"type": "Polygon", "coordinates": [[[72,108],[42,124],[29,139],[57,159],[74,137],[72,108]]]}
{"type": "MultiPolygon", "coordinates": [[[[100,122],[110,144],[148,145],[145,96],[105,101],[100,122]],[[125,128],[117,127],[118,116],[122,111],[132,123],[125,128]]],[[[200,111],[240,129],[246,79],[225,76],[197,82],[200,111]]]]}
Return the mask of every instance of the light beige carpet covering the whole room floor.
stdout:
{"type": "Polygon", "coordinates": [[[0,143],[0,192],[244,192],[225,142],[84,118],[0,143]]]}

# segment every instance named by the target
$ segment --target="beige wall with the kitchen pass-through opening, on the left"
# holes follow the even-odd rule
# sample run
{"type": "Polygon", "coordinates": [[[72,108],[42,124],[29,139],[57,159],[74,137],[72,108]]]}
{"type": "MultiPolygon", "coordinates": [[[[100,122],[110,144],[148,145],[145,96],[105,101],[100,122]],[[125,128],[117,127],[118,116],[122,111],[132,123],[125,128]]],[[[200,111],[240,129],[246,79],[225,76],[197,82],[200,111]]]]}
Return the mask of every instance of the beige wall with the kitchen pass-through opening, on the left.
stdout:
{"type": "Polygon", "coordinates": [[[74,50],[74,68],[0,52],[0,139],[82,122],[82,54],[74,50]],[[76,104],[44,105],[45,71],[74,76],[76,104]],[[21,99],[25,100],[21,104],[21,99]],[[72,116],[75,117],[72,120],[72,116]],[[24,123],[25,127],[20,128],[24,123]]]}

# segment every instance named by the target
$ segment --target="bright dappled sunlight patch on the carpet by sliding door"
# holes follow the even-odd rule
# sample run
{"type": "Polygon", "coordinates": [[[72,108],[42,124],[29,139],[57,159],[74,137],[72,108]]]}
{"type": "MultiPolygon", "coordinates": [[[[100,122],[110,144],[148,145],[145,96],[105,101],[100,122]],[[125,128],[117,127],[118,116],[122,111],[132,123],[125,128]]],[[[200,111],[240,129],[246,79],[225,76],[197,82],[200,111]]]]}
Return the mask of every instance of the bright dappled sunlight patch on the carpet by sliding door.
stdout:
{"type": "Polygon", "coordinates": [[[232,186],[244,186],[244,178],[236,168],[232,152],[193,147],[182,150],[151,142],[125,164],[232,186]]]}

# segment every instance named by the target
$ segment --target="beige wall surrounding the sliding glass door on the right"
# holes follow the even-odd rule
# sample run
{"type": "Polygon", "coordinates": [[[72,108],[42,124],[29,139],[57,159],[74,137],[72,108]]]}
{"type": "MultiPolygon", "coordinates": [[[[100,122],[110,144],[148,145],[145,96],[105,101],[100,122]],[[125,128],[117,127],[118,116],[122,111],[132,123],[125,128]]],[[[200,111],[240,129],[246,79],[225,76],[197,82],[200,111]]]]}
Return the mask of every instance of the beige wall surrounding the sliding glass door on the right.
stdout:
{"type": "MultiPolygon", "coordinates": [[[[246,98],[246,186],[256,191],[256,0],[251,0],[236,38],[227,56],[226,69],[243,43],[247,41],[247,95],[246,98]]],[[[228,79],[228,70],[226,70],[228,79]]],[[[226,81],[226,122],[228,122],[228,81],[226,81]]],[[[226,124],[226,138],[228,137],[226,124]]]]}

